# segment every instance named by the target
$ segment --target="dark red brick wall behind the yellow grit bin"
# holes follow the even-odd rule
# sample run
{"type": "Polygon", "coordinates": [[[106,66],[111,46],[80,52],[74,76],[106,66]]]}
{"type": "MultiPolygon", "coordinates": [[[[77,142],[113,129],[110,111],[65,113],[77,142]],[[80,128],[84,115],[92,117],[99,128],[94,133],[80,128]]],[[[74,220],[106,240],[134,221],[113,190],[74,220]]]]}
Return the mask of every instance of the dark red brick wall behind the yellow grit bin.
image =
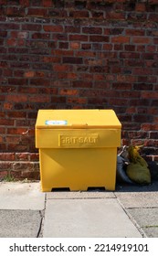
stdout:
{"type": "Polygon", "coordinates": [[[157,75],[157,0],[0,0],[1,176],[36,174],[38,109],[113,109],[157,154],[157,75]]]}

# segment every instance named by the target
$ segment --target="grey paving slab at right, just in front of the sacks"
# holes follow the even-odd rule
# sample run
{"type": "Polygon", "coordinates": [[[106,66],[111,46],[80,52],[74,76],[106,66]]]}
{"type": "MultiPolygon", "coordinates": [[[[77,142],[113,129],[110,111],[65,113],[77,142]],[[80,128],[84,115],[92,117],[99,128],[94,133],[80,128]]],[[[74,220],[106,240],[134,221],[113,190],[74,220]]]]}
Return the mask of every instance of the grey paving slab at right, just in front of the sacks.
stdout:
{"type": "Polygon", "coordinates": [[[158,207],[158,191],[155,192],[115,192],[125,208],[158,207]]]}

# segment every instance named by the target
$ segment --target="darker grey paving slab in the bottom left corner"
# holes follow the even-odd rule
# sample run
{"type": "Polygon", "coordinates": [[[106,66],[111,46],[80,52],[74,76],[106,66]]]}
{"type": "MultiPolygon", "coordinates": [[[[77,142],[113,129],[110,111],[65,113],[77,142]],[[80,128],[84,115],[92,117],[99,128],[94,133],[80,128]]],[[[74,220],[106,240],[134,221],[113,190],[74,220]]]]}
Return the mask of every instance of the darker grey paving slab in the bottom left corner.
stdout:
{"type": "Polygon", "coordinates": [[[40,223],[37,210],[0,210],[0,238],[37,238],[40,223]]]}

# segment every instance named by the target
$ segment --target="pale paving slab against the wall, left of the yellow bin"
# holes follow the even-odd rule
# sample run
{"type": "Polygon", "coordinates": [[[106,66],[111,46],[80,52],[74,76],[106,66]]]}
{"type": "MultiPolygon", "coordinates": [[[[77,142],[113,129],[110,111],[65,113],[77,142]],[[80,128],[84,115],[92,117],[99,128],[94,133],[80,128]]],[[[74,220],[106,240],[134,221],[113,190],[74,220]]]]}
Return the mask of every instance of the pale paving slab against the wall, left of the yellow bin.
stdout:
{"type": "Polygon", "coordinates": [[[0,208],[42,210],[45,193],[40,192],[38,182],[4,182],[0,187],[0,208]]]}

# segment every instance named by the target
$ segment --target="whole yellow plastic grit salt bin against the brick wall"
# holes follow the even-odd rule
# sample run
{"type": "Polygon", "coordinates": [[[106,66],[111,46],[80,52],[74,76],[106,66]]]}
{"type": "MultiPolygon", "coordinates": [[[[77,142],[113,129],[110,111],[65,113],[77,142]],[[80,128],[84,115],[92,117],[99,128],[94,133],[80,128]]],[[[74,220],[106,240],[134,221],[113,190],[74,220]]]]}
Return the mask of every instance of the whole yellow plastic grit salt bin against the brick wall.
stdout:
{"type": "Polygon", "coordinates": [[[39,110],[36,147],[42,191],[114,190],[119,146],[121,123],[112,110],[39,110]]]}

